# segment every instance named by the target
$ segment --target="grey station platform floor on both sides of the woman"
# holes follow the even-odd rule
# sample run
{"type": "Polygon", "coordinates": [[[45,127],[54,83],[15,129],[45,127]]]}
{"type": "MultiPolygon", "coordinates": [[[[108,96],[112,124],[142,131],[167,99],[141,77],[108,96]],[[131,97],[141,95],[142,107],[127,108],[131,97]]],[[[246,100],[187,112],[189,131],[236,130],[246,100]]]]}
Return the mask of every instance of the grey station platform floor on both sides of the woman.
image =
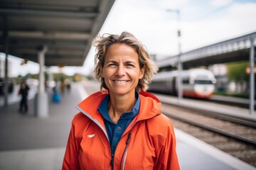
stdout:
{"type": "MultiPolygon", "coordinates": [[[[78,113],[75,106],[87,96],[85,84],[73,84],[60,103],[49,102],[48,118],[33,115],[33,98],[27,114],[18,113],[18,101],[0,106],[0,169],[61,169],[71,120],[78,113]]],[[[256,169],[181,130],[175,132],[182,170],[256,169]]]]}

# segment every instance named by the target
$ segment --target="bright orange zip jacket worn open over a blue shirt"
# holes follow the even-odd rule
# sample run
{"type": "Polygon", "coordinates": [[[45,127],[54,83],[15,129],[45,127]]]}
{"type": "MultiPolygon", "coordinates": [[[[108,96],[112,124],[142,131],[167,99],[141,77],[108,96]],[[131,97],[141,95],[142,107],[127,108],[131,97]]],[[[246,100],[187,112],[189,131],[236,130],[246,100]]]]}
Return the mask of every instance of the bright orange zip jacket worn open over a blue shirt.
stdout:
{"type": "Polygon", "coordinates": [[[161,114],[161,103],[140,93],[139,114],[124,131],[112,159],[102,115],[97,111],[107,94],[97,92],[78,104],[63,169],[179,169],[171,120],[161,114]]]}

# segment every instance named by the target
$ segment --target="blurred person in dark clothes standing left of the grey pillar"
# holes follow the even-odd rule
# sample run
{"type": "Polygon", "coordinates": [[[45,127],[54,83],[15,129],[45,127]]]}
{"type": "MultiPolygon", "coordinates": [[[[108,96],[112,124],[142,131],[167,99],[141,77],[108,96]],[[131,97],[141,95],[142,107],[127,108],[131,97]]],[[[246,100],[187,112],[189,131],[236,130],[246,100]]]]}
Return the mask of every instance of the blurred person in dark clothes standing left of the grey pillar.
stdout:
{"type": "Polygon", "coordinates": [[[20,107],[18,110],[19,112],[23,112],[23,108],[25,113],[28,112],[28,90],[29,90],[29,87],[26,84],[26,81],[25,80],[21,81],[21,86],[18,91],[18,94],[21,95],[20,107]]]}

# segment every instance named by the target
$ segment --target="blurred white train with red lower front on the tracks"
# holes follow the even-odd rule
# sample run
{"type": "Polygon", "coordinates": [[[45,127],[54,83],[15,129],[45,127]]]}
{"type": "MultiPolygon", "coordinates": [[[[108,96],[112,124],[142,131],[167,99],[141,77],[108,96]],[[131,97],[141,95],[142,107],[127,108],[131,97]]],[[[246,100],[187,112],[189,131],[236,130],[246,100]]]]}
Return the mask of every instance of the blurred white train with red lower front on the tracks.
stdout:
{"type": "MultiPolygon", "coordinates": [[[[188,69],[181,71],[183,96],[210,98],[215,91],[216,79],[208,69],[188,69]]],[[[164,94],[178,94],[178,71],[159,72],[154,75],[149,91],[164,94]]]]}

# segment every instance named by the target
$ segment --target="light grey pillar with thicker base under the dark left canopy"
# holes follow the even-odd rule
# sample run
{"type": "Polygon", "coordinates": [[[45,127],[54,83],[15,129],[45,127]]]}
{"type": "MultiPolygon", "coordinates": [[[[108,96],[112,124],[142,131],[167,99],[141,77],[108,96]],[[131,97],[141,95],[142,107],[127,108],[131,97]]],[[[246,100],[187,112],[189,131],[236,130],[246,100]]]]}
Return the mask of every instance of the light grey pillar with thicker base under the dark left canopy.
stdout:
{"type": "Polygon", "coordinates": [[[35,100],[35,115],[39,118],[48,117],[48,94],[45,88],[45,76],[44,76],[44,65],[45,65],[45,54],[47,52],[47,47],[40,47],[38,50],[38,63],[39,63],[39,86],[38,94],[36,94],[35,100]]]}

